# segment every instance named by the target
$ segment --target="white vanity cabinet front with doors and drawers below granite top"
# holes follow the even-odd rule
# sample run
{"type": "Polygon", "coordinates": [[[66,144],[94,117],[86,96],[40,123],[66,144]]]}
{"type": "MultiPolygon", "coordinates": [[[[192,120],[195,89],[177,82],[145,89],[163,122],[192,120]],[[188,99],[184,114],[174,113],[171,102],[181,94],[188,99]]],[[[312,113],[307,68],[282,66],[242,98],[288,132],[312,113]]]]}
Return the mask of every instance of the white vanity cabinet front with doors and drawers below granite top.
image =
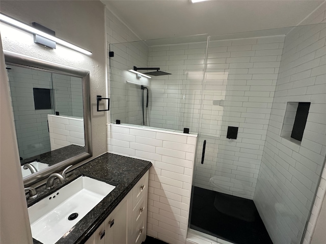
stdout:
{"type": "Polygon", "coordinates": [[[146,238],[148,171],[86,244],[140,244],[146,238]]]}

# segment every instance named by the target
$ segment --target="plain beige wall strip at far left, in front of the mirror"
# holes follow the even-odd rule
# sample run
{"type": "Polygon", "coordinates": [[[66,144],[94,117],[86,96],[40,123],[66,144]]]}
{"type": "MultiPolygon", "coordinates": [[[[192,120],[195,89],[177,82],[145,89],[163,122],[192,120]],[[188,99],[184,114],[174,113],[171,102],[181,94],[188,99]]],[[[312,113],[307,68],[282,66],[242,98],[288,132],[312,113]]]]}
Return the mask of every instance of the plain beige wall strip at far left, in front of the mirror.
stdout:
{"type": "Polygon", "coordinates": [[[19,153],[1,40],[0,69],[0,242],[32,244],[20,164],[12,164],[19,162],[19,153]]]}

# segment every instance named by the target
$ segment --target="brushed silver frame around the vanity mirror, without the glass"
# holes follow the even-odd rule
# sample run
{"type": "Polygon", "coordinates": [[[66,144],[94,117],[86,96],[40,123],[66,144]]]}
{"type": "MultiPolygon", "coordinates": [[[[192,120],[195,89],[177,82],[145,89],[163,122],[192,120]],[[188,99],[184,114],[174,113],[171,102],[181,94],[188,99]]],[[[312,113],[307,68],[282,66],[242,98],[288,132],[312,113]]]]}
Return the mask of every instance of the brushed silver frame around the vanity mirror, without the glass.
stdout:
{"type": "MultiPolygon", "coordinates": [[[[82,162],[92,157],[92,127],[91,127],[91,95],[90,95],[90,72],[77,69],[66,65],[48,62],[43,59],[26,56],[20,53],[4,50],[6,65],[13,65],[40,71],[50,71],[56,74],[70,75],[82,78],[83,82],[83,111],[84,111],[84,133],[85,133],[85,152],[74,157],[59,162],[49,169],[40,170],[34,174],[23,178],[24,187],[31,186],[36,182],[45,179],[50,174],[59,172],[69,165],[82,162]]],[[[14,122],[14,121],[13,121],[14,122]]]]}

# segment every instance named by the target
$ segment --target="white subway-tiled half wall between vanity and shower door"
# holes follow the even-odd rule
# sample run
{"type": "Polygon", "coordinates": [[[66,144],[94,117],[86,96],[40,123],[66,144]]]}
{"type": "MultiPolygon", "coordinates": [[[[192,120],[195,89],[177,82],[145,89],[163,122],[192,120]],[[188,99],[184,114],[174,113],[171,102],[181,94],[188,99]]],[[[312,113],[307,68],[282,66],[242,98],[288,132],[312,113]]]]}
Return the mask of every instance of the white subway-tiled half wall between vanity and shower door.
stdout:
{"type": "Polygon", "coordinates": [[[147,235],[185,243],[197,135],[107,125],[107,151],[151,161],[147,235]]]}

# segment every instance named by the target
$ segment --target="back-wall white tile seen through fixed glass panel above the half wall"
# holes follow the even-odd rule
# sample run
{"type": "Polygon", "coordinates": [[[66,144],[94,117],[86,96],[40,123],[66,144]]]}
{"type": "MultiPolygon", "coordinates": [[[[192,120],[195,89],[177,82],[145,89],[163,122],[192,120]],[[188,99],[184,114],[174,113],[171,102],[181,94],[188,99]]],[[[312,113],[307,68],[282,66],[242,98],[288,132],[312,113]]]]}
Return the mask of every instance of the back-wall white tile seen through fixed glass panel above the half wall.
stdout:
{"type": "Polygon", "coordinates": [[[171,75],[150,82],[149,123],[198,132],[206,42],[149,47],[149,66],[171,75]]]}

